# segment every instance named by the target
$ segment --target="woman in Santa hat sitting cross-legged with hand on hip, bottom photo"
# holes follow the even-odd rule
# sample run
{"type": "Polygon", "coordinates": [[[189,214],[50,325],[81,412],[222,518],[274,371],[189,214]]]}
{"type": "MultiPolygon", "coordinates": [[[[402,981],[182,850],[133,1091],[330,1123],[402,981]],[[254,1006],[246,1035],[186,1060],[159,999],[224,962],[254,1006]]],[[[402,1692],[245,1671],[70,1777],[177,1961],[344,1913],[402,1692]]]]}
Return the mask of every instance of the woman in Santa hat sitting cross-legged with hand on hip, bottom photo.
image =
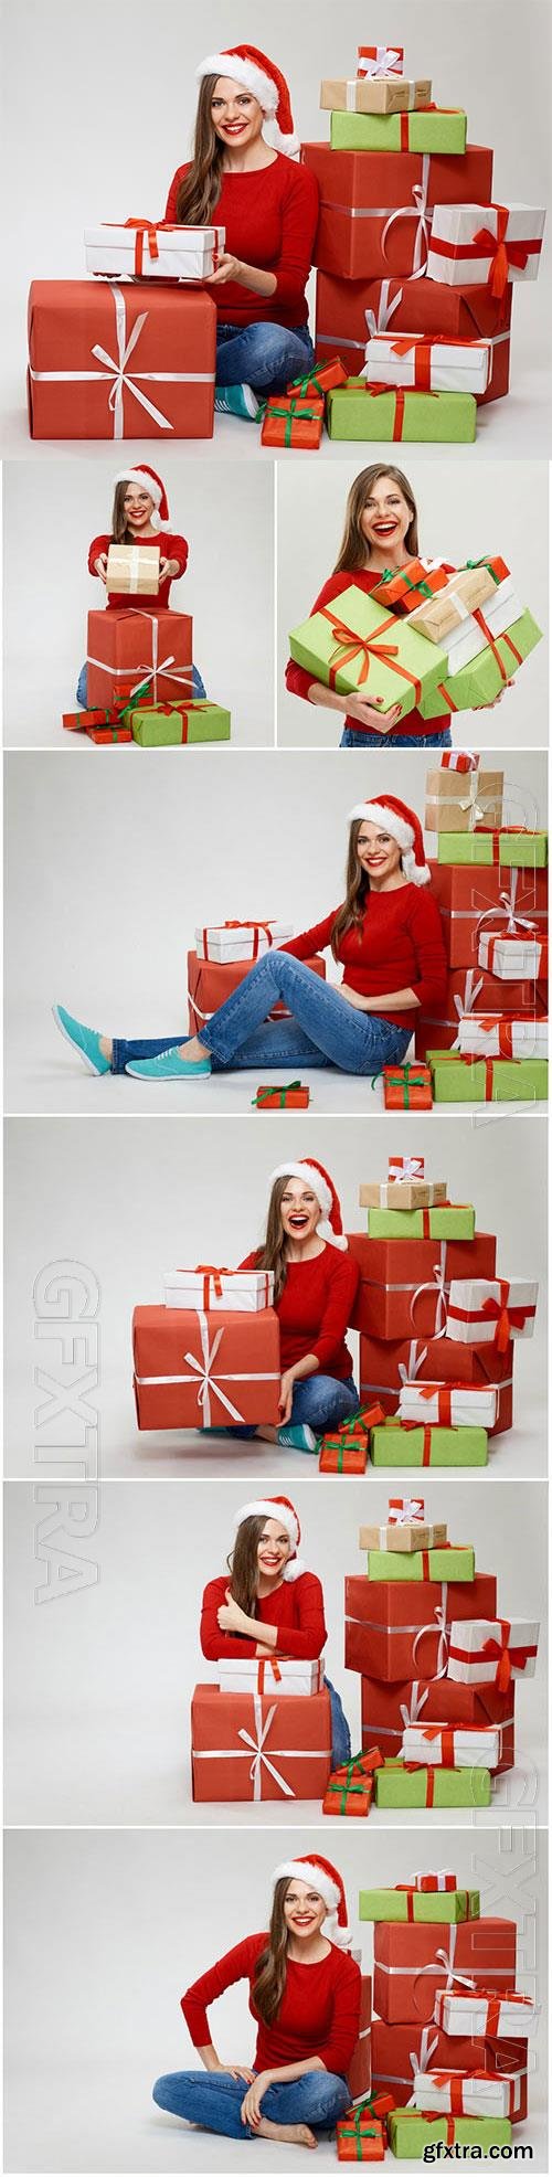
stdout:
{"type": "Polygon", "coordinates": [[[156,2079],[154,2101],[228,2140],[315,2147],[350,2103],[361,1968],[348,1957],[346,1892],[330,1859],[289,1859],[272,1885],[269,1931],[246,1935],[183,1996],[204,2068],[156,2079]],[[209,2031],[206,2007],[237,1981],[250,1983],[259,2029],[252,2068],[224,2064],[209,2031]]]}

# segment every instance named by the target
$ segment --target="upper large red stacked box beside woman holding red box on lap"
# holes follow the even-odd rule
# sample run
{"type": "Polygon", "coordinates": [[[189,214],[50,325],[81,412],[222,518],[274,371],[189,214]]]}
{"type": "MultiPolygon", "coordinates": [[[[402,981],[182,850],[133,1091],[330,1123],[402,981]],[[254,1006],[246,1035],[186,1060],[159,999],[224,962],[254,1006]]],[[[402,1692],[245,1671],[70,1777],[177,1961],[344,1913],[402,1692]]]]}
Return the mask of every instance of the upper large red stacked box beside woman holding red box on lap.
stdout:
{"type": "Polygon", "coordinates": [[[348,1245],[361,1265],[352,1330],[380,1339],[432,1337],[443,1330],[450,1278],[495,1276],[493,1232],[441,1243],[348,1232],[348,1245]]]}

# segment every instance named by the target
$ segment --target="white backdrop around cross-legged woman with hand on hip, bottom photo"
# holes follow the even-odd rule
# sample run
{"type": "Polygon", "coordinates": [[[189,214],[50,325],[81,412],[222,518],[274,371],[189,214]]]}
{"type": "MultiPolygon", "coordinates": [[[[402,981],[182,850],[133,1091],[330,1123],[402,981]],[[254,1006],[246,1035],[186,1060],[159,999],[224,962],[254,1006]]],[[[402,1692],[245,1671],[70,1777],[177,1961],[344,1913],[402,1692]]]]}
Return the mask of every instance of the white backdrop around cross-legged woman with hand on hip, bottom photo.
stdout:
{"type": "MultiPolygon", "coordinates": [[[[517,1985],[545,2005],[545,1842],[524,1829],[456,1837],[435,1822],[424,1840],[341,1822],[335,1857],[346,1879],[350,1924],[372,1966],[372,1929],[359,1927],[359,1890],[409,1881],[413,1868],[454,1866],[478,1885],[487,1916],[517,1922],[517,1985]],[[535,1859],[537,1846],[537,1859],[535,1859]],[[537,1966],[537,1979],[535,1979],[537,1966]]],[[[246,1931],[267,1924],[269,1879],[280,1859],[313,1850],[313,1829],[213,1835],[46,1835],[7,1840],[9,2107],[11,2170],[187,2170],[269,2173],[293,2166],[263,2140],[215,2140],[156,2110],[154,2077],[196,2066],[178,2009],[183,1990],[246,1931]]],[[[328,1850],[328,1824],[324,1840],[328,1850]]],[[[333,1837],[330,1837],[333,1844],[333,1837]]],[[[254,2049],[248,1988],[213,2016],[219,2055],[248,2062],[254,2049]]],[[[513,2142],[530,2140],[532,2168],[548,2170],[545,2018],[530,2042],[530,2118],[513,2142]],[[535,2051],[535,2057],[532,2057],[535,2051]]],[[[335,2170],[335,2142],[317,2168],[335,2170]]],[[[419,2164],[402,2164],[419,2168],[419,2164]]],[[[298,2160],[296,2160],[298,2168],[298,2160]]]]}

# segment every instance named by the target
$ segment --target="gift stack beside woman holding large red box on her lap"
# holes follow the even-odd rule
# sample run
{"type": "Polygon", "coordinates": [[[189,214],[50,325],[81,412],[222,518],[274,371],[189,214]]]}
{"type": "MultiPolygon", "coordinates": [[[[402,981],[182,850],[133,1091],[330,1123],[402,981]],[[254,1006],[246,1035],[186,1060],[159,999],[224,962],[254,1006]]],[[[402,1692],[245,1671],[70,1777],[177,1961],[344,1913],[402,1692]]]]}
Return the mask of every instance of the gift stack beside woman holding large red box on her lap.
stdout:
{"type": "Polygon", "coordinates": [[[513,1426],[513,1352],[530,1337],[537,1284],[495,1276],[495,1234],[472,1204],[450,1204],[422,1156],[396,1156],[389,1182],[361,1184],[361,1398],[378,1400],[376,1467],[487,1465],[489,1437],[513,1426]]]}

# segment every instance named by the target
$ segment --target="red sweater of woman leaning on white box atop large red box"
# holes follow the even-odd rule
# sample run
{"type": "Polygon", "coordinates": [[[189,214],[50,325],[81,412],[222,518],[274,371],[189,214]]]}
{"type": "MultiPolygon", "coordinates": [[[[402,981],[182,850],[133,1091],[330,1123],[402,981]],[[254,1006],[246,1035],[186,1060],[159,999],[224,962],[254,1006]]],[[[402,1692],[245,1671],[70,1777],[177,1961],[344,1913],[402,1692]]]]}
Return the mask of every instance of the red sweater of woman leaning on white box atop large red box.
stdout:
{"type": "MultiPolygon", "coordinates": [[[[233,1585],[230,1574],[222,1572],[219,1581],[209,1581],[204,1589],[200,1641],[209,1663],[217,1663],[226,1655],[254,1657],[256,1652],[256,1641],[248,1639],[246,1633],[219,1631],[217,1611],[226,1602],[228,1585],[233,1585]]],[[[256,1596],[254,1615],[259,1618],[259,1641],[263,1624],[278,1626],[278,1648],[274,1648],[274,1655],[296,1655],[309,1661],[322,1655],[328,1635],[324,1624],[324,1594],[315,1572],[302,1572],[298,1581],[280,1581],[274,1596],[256,1596]]]]}

